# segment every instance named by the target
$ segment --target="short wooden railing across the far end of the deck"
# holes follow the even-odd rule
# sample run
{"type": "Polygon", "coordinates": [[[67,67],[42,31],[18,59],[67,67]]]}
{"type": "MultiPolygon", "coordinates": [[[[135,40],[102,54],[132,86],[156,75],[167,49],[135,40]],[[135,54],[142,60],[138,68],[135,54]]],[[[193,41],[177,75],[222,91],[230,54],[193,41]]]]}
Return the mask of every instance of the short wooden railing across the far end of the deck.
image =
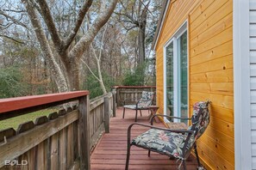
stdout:
{"type": "Polygon", "coordinates": [[[115,94],[116,106],[122,106],[126,99],[129,99],[126,100],[126,104],[134,104],[141,98],[142,91],[155,92],[155,90],[155,86],[115,86],[112,88],[112,93],[115,94]]]}

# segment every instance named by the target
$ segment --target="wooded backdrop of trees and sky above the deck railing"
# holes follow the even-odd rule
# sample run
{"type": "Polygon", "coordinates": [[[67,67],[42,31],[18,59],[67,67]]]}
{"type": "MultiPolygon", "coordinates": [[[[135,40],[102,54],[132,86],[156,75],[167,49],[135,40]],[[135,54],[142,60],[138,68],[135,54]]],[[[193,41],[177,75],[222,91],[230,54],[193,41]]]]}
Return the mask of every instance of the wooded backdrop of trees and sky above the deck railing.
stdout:
{"type": "Polygon", "coordinates": [[[155,85],[161,1],[3,0],[0,98],[155,85]]]}

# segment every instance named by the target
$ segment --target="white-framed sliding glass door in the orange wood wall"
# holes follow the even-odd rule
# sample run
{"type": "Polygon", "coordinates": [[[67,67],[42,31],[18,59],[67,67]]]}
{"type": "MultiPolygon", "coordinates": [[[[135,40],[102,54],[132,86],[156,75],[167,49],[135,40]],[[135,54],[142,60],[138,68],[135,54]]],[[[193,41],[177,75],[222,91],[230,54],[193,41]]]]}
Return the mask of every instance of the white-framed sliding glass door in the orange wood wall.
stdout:
{"type": "MultiPolygon", "coordinates": [[[[165,115],[188,117],[187,41],[186,25],[184,25],[164,47],[165,115]]],[[[170,119],[165,118],[165,121],[168,122],[170,119]]]]}

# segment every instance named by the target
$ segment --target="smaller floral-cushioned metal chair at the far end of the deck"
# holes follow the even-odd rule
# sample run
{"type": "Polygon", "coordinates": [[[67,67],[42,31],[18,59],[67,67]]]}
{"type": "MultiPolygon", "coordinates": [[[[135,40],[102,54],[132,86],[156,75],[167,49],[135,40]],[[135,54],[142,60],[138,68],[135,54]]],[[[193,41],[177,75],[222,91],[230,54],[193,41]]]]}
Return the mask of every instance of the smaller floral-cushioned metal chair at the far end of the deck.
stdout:
{"type": "Polygon", "coordinates": [[[140,116],[142,116],[141,110],[148,110],[149,106],[152,105],[153,100],[154,100],[154,92],[147,92],[147,91],[142,91],[142,97],[140,98],[140,100],[136,102],[135,105],[125,105],[126,100],[124,100],[122,118],[124,118],[125,110],[127,108],[132,109],[132,110],[135,110],[135,122],[137,122],[138,111],[140,111],[140,116]]]}

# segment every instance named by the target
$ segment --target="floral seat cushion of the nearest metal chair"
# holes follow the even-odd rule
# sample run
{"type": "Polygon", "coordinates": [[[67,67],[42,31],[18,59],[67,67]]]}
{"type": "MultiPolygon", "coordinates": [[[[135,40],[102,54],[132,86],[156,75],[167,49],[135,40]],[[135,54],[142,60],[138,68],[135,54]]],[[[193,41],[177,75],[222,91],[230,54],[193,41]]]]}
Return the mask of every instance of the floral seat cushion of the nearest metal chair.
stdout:
{"type": "Polygon", "coordinates": [[[170,131],[150,129],[135,137],[132,144],[140,148],[151,149],[160,154],[182,158],[184,135],[170,131]]]}

